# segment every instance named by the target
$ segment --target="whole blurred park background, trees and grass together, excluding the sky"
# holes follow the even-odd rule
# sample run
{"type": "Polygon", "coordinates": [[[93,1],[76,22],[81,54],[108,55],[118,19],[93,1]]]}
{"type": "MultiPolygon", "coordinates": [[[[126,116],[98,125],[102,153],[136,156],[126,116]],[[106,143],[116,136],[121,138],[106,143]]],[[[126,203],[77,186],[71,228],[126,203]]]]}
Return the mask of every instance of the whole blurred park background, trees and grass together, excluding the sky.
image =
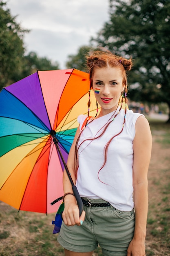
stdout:
{"type": "MultiPolygon", "coordinates": [[[[68,55],[64,68],[86,71],[85,56],[98,46],[132,56],[128,106],[144,113],[153,135],[146,255],[170,255],[170,0],[107,0],[107,4],[108,20],[87,45],[68,55]]],[[[27,51],[24,36],[28,33],[11,14],[8,2],[0,0],[0,90],[36,70],[61,68],[60,59],[27,51]]],[[[1,202],[0,256],[64,255],[59,245],[55,247],[56,236],[49,225],[53,218],[18,213],[1,202]]],[[[94,255],[102,255],[100,249],[94,255]]]]}

